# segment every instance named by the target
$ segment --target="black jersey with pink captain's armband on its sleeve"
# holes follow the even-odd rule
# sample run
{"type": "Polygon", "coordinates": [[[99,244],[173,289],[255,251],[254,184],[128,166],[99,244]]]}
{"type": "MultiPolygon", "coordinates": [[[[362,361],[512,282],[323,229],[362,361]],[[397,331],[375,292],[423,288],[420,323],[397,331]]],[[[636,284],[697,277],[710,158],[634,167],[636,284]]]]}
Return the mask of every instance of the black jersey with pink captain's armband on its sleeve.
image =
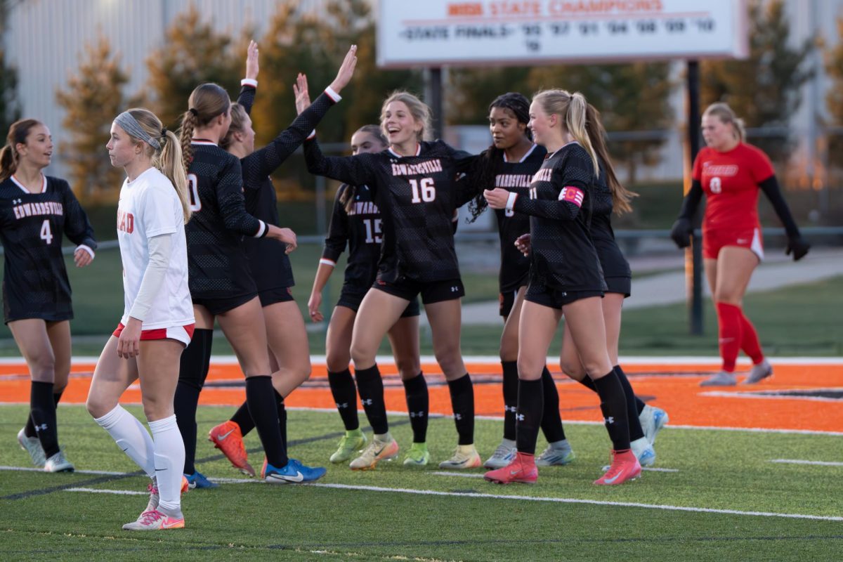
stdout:
{"type": "Polygon", "coordinates": [[[510,195],[507,208],[530,217],[530,285],[605,291],[588,232],[595,181],[591,157],[577,142],[569,142],[542,163],[529,196],[510,195]]]}

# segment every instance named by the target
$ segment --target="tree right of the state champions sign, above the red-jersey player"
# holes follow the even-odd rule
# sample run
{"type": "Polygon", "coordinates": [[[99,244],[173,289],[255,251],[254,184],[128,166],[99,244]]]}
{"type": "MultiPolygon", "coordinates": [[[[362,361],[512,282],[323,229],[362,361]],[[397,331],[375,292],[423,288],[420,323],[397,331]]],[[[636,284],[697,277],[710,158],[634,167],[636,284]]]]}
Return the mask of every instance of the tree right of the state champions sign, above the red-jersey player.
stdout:
{"type": "MultiPolygon", "coordinates": [[[[802,102],[800,88],[813,77],[813,68],[806,68],[805,62],[816,41],[790,45],[790,22],[782,0],[752,0],[749,21],[747,60],[701,63],[702,102],[704,106],[728,103],[749,127],[787,126],[802,102]]],[[[758,138],[754,143],[774,161],[790,150],[781,138],[758,138]]]]}

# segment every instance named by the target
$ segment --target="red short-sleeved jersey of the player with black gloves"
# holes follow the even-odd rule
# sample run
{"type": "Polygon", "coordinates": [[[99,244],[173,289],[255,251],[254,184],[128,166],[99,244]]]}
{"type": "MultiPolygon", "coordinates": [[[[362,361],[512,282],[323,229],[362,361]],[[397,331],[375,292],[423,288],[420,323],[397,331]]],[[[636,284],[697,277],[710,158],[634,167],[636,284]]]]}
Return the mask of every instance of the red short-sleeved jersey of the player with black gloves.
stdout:
{"type": "Polygon", "coordinates": [[[703,230],[758,226],[758,185],[773,174],[770,158],[752,145],[741,142],[728,153],[703,148],[692,176],[706,192],[703,230]]]}

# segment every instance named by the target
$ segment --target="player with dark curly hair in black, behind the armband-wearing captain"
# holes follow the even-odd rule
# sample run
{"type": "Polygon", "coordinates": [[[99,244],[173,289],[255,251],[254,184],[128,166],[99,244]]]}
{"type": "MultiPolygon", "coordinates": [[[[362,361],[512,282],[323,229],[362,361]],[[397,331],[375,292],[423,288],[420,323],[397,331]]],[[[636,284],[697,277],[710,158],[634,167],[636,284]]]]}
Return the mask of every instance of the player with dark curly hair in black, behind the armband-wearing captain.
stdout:
{"type": "MultiPolygon", "coordinates": [[[[547,151],[533,142],[527,128],[529,100],[522,94],[509,92],[498,96],[489,105],[489,129],[492,145],[477,158],[475,173],[464,180],[478,190],[470,210],[474,217],[486,210],[482,190],[502,187],[526,193],[533,174],[545,160],[547,151]]],[[[496,209],[497,230],[501,240],[499,274],[501,316],[501,365],[503,368],[503,439],[486,468],[502,468],[515,458],[515,415],[518,404],[518,318],[527,289],[529,259],[515,247],[518,236],[529,231],[529,217],[515,211],[496,209]]],[[[536,458],[540,466],[570,463],[574,454],[565,437],[559,415],[559,392],[547,367],[541,374],[545,391],[545,407],[541,428],[548,441],[545,452],[536,458]]]]}

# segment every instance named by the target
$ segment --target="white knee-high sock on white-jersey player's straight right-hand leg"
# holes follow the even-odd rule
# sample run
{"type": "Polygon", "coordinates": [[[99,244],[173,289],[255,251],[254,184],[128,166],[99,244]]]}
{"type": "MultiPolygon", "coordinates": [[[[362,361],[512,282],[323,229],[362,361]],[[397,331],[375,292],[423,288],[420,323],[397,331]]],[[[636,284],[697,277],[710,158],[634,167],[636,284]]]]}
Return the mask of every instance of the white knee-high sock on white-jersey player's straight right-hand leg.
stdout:
{"type": "Polygon", "coordinates": [[[155,475],[158,479],[158,511],[181,515],[181,469],[185,466],[185,442],[181,439],[175,415],[150,421],[155,447],[155,475]]]}

